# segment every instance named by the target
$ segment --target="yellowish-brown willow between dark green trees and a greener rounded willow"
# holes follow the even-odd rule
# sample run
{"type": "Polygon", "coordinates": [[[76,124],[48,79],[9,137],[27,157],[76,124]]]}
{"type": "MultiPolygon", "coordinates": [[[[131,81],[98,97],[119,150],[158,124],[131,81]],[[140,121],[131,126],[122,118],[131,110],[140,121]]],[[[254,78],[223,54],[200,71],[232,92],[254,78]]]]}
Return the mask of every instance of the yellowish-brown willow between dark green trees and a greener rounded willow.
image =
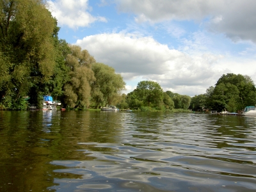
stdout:
{"type": "Polygon", "coordinates": [[[91,84],[95,81],[92,70],[95,59],[77,45],[70,45],[70,50],[71,53],[66,57],[70,81],[64,86],[64,100],[72,108],[87,108],[90,104],[91,84]]]}

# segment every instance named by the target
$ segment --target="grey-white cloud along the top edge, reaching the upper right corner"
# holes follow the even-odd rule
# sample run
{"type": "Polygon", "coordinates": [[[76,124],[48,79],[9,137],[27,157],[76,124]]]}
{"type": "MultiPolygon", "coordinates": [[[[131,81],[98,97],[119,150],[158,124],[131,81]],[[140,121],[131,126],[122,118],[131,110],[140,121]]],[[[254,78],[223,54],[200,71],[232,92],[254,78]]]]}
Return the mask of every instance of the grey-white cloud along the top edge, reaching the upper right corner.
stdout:
{"type": "Polygon", "coordinates": [[[120,12],[134,13],[136,22],[196,20],[214,33],[256,43],[256,3],[254,0],[115,0],[120,12]],[[206,20],[206,22],[205,22],[206,20]]]}

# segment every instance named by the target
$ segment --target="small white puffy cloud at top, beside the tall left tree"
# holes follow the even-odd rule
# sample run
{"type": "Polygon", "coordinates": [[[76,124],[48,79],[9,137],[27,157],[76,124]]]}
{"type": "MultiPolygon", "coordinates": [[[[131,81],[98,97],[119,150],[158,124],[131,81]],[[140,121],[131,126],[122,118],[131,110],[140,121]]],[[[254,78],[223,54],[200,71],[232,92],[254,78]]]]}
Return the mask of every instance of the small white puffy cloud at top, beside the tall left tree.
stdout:
{"type": "Polygon", "coordinates": [[[88,5],[88,0],[56,0],[48,3],[52,16],[58,19],[60,26],[77,29],[96,21],[107,22],[104,17],[94,17],[90,14],[92,8],[88,5]]]}

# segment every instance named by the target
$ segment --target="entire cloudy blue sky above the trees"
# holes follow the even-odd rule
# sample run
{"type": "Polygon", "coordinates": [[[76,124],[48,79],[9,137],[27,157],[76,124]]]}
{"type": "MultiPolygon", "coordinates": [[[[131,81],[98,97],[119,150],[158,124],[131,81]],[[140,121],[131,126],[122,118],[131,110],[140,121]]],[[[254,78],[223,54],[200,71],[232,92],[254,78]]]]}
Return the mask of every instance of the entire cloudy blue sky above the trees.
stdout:
{"type": "Polygon", "coordinates": [[[254,0],[55,0],[59,38],[115,68],[132,92],[140,81],[164,91],[205,93],[227,73],[256,83],[254,0]]]}

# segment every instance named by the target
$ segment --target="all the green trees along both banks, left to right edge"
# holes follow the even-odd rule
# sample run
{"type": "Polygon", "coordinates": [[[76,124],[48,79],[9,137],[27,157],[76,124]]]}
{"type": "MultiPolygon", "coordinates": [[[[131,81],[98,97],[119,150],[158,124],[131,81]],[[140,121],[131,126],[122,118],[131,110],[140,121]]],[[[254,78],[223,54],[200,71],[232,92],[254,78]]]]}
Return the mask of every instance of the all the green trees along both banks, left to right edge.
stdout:
{"type": "Polygon", "coordinates": [[[42,108],[42,95],[80,109],[113,104],[138,111],[235,112],[256,103],[255,84],[241,74],[224,74],[195,97],[164,92],[154,81],[141,81],[122,94],[125,82],[114,68],[58,38],[58,22],[45,1],[5,0],[0,6],[0,109],[42,108]]]}

